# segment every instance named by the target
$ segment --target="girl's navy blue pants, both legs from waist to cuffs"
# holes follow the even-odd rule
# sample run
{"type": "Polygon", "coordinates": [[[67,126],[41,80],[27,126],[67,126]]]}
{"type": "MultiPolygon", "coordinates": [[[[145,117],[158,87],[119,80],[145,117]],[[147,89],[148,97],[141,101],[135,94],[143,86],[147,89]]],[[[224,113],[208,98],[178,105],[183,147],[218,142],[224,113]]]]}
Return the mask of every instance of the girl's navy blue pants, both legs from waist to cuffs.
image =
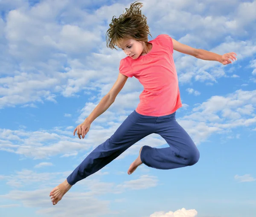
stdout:
{"type": "Polygon", "coordinates": [[[74,185],[81,179],[99,171],[131,145],[151,133],[162,136],[169,147],[143,146],[140,154],[143,164],[162,170],[194,165],[199,160],[199,151],[188,133],[177,123],[175,114],[176,112],[154,117],[141,115],[134,110],[116,132],[95,148],[67,177],[67,182],[74,185]]]}

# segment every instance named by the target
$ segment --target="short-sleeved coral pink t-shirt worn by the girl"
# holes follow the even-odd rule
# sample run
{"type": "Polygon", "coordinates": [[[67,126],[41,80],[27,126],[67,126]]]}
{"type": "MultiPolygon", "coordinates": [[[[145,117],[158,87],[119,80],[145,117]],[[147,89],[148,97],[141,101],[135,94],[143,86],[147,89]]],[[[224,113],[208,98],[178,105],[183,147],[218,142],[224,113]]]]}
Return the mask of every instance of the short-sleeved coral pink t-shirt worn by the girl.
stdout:
{"type": "Polygon", "coordinates": [[[119,72],[137,78],[144,90],[140,94],[137,113],[145,116],[165,116],[182,106],[178,77],[173,59],[172,38],[158,35],[149,41],[152,49],[137,59],[120,61],[119,72]]]}

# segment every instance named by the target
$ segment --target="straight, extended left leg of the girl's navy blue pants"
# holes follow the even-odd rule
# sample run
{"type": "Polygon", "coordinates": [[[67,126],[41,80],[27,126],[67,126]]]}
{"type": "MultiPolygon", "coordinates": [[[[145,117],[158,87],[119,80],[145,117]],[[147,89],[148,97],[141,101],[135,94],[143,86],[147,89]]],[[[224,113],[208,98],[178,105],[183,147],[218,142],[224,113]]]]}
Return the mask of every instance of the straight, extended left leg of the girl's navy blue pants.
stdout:
{"type": "Polygon", "coordinates": [[[155,118],[148,116],[148,119],[143,119],[136,111],[131,113],[116,132],[95,148],[67,177],[67,182],[74,185],[81,179],[96,173],[131,145],[153,133],[155,118]]]}

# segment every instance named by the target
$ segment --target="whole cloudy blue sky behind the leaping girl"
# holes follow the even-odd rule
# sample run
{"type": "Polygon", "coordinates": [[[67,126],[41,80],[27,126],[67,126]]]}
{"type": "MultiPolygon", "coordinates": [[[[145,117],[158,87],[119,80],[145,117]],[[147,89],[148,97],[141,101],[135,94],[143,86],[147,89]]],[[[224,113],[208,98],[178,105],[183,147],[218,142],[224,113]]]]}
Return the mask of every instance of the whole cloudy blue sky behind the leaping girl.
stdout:
{"type": "Polygon", "coordinates": [[[199,162],[170,171],[143,165],[128,176],[141,146],[167,147],[152,134],[53,206],[52,188],[139,103],[143,87],[129,78],[85,139],[73,136],[116,81],[125,54],[108,49],[105,34],[132,1],[2,0],[1,216],[255,217],[256,1],[141,2],[153,38],[237,54],[223,66],[174,52],[183,102],[176,117],[199,162]]]}

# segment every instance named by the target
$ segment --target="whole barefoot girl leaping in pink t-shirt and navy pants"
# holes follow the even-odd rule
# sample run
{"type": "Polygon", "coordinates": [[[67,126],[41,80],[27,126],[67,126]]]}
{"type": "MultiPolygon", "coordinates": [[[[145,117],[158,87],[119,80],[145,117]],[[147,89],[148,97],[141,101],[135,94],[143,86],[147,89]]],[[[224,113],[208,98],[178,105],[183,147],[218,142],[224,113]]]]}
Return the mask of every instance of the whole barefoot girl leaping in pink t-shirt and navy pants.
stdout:
{"type": "Polygon", "coordinates": [[[150,35],[147,18],[141,14],[142,3],[134,2],[119,18],[113,18],[107,31],[107,46],[118,46],[127,55],[120,61],[118,78],[93,112],[74,130],[79,139],[90,130],[90,124],[115,101],[128,77],[139,79],[144,90],[140,103],[116,132],[94,149],[67,179],[55,187],[50,197],[55,205],[65,193],[91,174],[113,161],[126,149],[151,133],[157,133],[169,144],[168,148],[140,149],[139,156],[131,164],[128,174],[145,164],[151,168],[174,169],[194,165],[198,162],[199,151],[186,131],[176,122],[175,113],[182,106],[178,87],[173,50],[203,60],[230,64],[236,60],[236,53],[218,55],[202,49],[195,49],[177,42],[168,35],[158,35],[148,41],[150,35]],[[230,60],[231,59],[231,60],[230,60]]]}

